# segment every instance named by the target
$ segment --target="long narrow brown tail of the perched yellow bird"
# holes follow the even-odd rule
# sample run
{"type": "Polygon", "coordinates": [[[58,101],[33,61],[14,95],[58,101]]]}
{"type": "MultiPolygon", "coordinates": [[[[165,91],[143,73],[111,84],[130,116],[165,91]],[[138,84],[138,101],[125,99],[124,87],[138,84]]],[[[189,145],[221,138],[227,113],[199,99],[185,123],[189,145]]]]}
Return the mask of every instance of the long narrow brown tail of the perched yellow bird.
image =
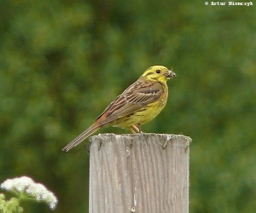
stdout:
{"type": "Polygon", "coordinates": [[[96,130],[99,130],[100,127],[98,124],[92,124],[87,130],[82,132],[79,136],[77,136],[73,141],[67,144],[66,147],[62,148],[62,151],[69,151],[73,147],[76,147],[80,142],[84,141],[87,137],[93,134],[96,130]]]}

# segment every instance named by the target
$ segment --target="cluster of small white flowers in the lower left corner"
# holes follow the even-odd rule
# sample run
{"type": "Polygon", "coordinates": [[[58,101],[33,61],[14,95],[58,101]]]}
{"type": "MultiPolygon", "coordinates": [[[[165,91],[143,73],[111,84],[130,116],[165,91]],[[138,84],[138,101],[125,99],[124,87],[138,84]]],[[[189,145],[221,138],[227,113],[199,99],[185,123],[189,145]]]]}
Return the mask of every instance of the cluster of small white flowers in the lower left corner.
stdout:
{"type": "Polygon", "coordinates": [[[55,209],[58,203],[54,193],[51,193],[43,184],[36,183],[26,176],[8,179],[1,184],[1,188],[18,194],[24,193],[26,198],[43,201],[51,210],[55,209]]]}

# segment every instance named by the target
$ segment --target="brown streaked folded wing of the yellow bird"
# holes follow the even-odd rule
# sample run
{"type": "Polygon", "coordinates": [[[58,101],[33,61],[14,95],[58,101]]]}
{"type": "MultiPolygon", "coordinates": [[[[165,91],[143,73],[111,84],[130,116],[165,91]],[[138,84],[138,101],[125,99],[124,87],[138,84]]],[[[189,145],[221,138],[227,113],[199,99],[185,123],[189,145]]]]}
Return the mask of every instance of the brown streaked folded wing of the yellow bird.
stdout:
{"type": "Polygon", "coordinates": [[[108,124],[158,100],[163,92],[161,83],[139,79],[113,100],[96,119],[101,120],[100,125],[108,124]]]}

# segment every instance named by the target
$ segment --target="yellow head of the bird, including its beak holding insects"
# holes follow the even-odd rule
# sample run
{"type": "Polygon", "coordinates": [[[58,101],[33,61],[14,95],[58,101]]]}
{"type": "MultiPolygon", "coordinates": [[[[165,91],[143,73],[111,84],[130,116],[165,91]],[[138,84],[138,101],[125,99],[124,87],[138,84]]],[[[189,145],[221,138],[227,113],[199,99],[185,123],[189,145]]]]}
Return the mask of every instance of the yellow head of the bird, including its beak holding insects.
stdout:
{"type": "Polygon", "coordinates": [[[141,78],[166,83],[168,79],[175,76],[176,74],[171,70],[168,70],[165,66],[151,66],[143,73],[141,78]]]}

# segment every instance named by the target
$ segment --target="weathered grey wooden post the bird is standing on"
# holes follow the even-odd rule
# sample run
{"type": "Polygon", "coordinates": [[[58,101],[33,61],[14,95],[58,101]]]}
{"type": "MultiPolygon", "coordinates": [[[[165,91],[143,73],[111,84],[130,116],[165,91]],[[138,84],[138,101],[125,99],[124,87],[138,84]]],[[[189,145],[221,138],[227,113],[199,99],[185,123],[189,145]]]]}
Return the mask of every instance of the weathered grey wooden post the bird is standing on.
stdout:
{"type": "Polygon", "coordinates": [[[90,140],[90,213],[189,212],[189,137],[103,134],[90,140]]]}

